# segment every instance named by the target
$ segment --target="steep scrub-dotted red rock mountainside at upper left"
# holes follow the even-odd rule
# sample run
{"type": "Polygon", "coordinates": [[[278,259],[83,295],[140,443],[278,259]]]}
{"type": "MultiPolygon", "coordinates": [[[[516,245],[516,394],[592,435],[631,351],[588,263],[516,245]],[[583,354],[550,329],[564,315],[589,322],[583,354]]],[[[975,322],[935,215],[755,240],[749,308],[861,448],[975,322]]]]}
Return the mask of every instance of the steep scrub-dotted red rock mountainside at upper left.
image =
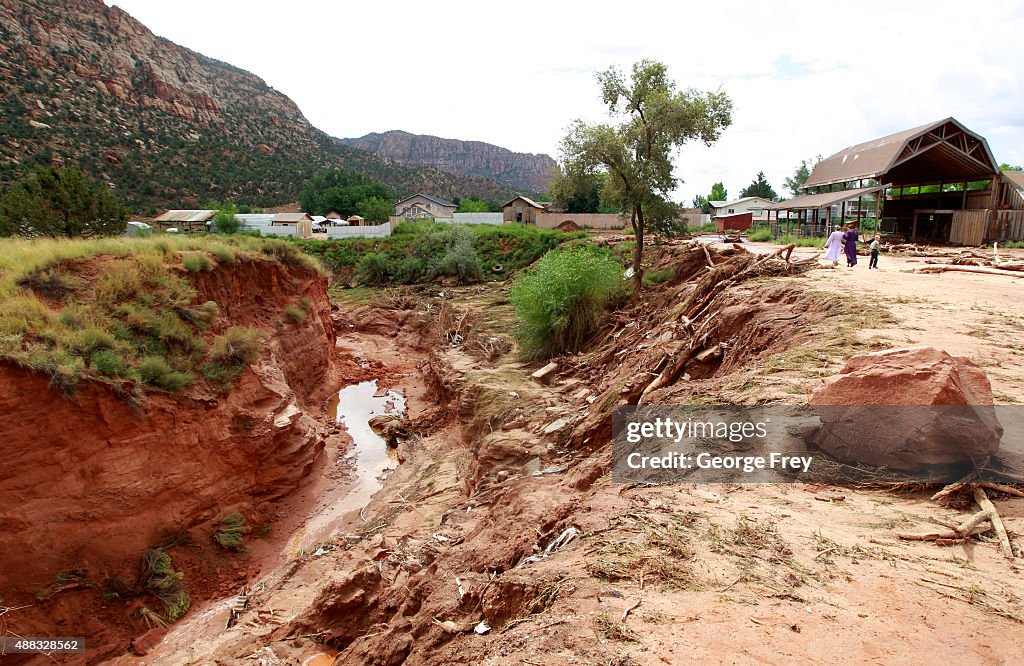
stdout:
{"type": "Polygon", "coordinates": [[[138,212],[223,199],[267,207],[297,201],[315,171],[347,167],[398,194],[512,195],[345,145],[259,77],[101,0],[0,0],[0,186],[37,163],[75,165],[138,212]]]}

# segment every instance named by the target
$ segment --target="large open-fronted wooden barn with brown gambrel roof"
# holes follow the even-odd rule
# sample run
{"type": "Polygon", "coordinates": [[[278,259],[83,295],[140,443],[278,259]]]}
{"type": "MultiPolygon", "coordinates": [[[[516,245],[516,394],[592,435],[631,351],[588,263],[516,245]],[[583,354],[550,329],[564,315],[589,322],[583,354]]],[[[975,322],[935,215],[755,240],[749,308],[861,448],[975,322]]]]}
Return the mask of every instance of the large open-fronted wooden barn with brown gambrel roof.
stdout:
{"type": "Polygon", "coordinates": [[[804,195],[766,208],[769,223],[805,236],[857,222],[911,242],[1020,241],[1015,175],[999,171],[983,136],[946,118],[840,151],[814,167],[804,195]]]}

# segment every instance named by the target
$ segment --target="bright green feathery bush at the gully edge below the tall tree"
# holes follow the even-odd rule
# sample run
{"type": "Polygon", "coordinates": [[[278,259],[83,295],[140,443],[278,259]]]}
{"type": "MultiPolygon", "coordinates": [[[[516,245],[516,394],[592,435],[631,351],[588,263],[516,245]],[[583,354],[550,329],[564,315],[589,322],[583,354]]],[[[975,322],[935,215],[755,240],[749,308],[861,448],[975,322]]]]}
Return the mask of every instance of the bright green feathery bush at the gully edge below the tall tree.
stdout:
{"type": "Polygon", "coordinates": [[[509,294],[520,351],[540,359],[579,350],[625,286],[622,265],[607,254],[583,247],[546,254],[509,294]]]}

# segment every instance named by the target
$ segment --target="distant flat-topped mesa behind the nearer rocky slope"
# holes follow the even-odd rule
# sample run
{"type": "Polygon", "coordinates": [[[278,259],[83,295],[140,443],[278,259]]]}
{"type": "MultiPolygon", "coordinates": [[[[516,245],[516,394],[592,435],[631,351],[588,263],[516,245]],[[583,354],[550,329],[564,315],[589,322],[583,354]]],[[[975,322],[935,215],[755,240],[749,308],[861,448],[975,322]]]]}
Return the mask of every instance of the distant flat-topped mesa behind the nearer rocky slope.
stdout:
{"type": "Polygon", "coordinates": [[[493,178],[530,193],[547,191],[555,167],[549,155],[513,153],[483,141],[460,141],[400,130],[341,141],[409,167],[432,166],[452,173],[493,178]]]}

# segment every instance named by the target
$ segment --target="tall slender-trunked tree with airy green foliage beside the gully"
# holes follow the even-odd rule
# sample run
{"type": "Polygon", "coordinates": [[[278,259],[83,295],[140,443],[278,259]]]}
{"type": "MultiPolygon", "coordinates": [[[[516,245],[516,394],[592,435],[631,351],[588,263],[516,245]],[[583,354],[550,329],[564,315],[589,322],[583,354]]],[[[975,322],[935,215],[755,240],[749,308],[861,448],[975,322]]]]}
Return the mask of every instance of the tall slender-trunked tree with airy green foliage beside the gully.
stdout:
{"type": "Polygon", "coordinates": [[[662,63],[640,60],[627,78],[617,68],[597,75],[601,97],[615,124],[574,121],[562,139],[562,172],[586,182],[604,171],[602,202],[628,215],[636,235],[633,279],[643,281],[643,240],[648,228],[664,231],[679,213],[669,199],[679,184],[673,156],[690,140],[714,143],[732,124],[732,100],[721,90],[679,91],[662,63]]]}

